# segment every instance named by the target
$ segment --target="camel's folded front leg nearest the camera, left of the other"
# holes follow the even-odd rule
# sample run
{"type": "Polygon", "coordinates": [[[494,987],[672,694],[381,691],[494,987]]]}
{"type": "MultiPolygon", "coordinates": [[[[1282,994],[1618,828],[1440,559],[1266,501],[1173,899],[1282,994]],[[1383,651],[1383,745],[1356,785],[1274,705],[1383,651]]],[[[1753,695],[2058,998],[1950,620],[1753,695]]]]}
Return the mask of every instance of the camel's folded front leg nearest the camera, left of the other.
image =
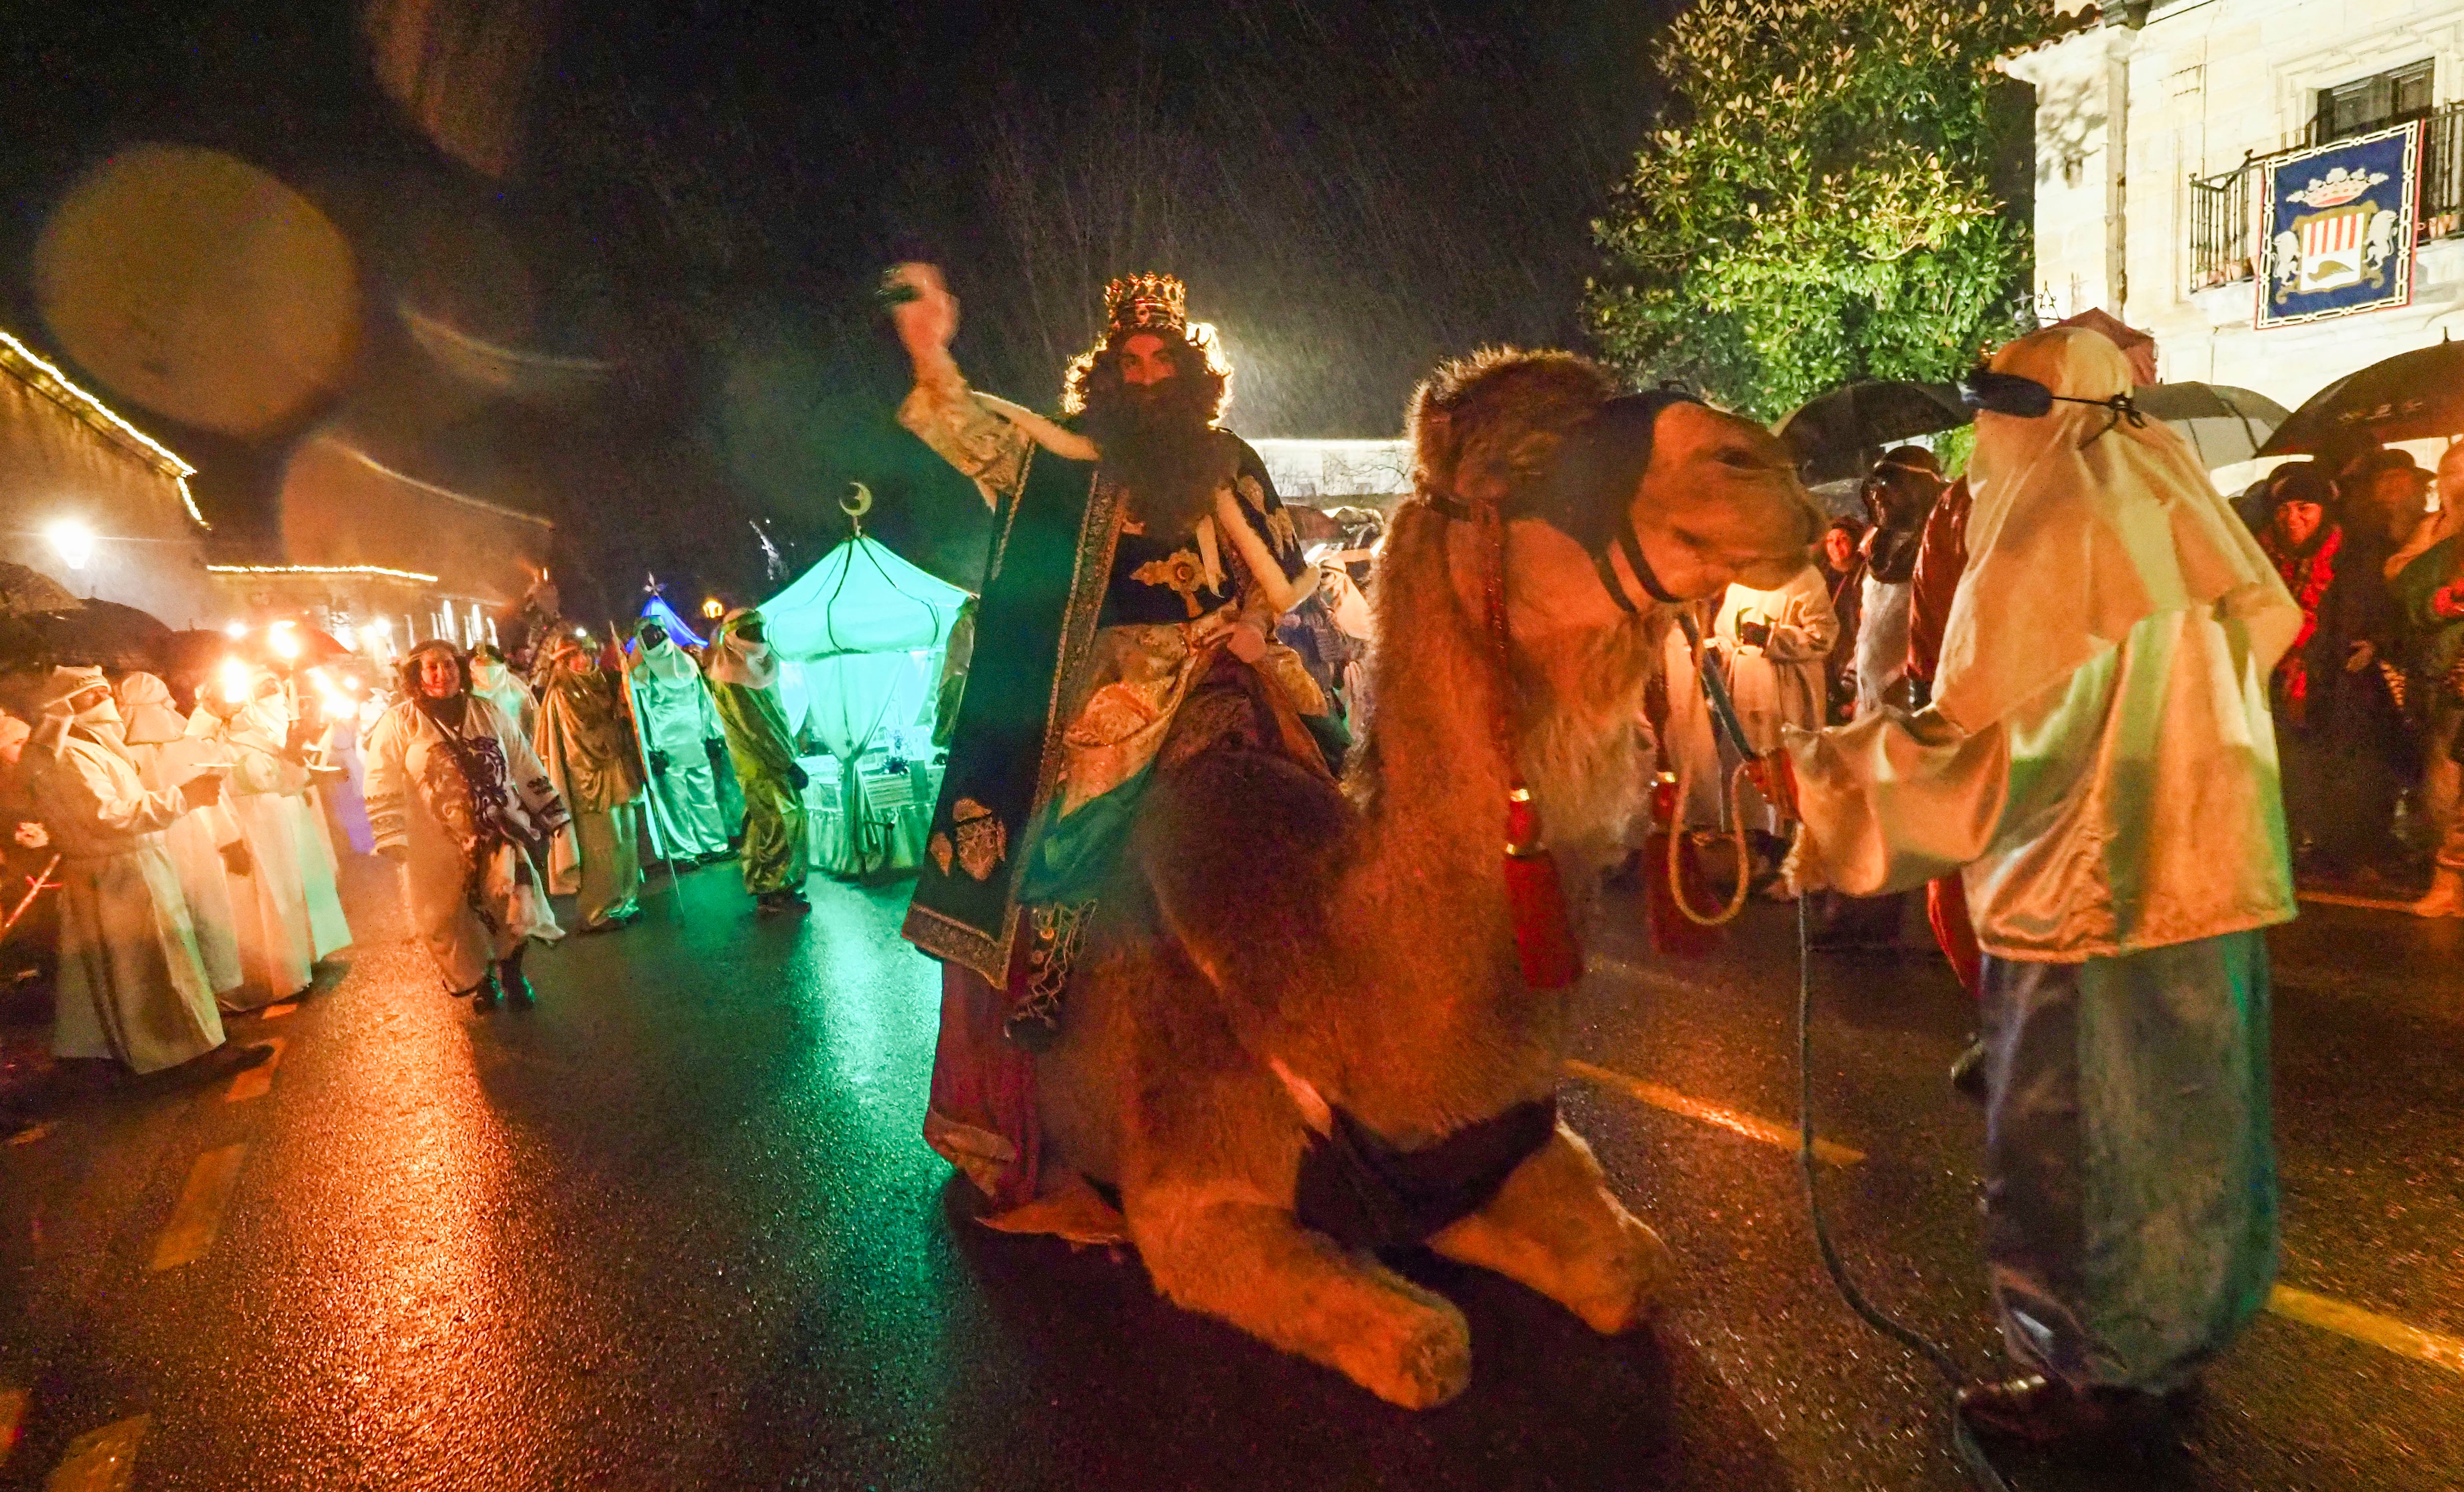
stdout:
{"type": "Polygon", "coordinates": [[[1365,1253],[1262,1201],[1131,1194],[1138,1258],[1173,1305],[1321,1361],[1387,1403],[1429,1408],[1471,1381],[1471,1327],[1365,1253]]]}

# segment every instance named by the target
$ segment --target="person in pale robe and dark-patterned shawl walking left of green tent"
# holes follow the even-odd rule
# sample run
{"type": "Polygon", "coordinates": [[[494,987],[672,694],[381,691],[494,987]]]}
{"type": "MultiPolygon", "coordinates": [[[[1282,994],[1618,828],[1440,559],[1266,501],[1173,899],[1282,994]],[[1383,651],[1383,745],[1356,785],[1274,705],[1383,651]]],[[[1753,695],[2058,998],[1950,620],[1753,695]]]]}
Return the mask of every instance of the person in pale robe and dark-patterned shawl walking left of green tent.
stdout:
{"type": "Polygon", "coordinates": [[[402,661],[402,698],[367,732],[370,826],[446,991],[530,1004],[522,952],[564,937],[540,858],[569,816],[520,730],[466,691],[446,641],[402,661]]]}

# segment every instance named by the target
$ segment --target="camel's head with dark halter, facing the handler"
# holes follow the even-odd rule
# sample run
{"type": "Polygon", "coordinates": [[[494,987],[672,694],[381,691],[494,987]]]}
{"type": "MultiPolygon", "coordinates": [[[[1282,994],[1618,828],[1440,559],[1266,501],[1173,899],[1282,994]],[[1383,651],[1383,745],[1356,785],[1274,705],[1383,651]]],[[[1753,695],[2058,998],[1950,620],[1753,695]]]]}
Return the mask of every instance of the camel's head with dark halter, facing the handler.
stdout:
{"type": "Polygon", "coordinates": [[[1419,491],[1515,518],[1515,597],[1562,624],[1777,587],[1823,525],[1777,437],[1678,395],[1619,395],[1572,353],[1446,363],[1412,400],[1412,446],[1419,491]]]}

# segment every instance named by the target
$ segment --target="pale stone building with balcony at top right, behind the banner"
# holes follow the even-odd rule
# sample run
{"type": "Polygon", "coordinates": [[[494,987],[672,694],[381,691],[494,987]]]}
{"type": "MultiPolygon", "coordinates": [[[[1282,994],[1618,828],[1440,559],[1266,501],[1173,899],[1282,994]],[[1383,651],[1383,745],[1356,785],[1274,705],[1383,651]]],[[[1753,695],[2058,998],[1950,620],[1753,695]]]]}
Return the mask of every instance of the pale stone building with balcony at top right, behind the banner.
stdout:
{"type": "Polygon", "coordinates": [[[2464,0],[2085,7],[2003,72],[2035,86],[2043,321],[2102,306],[2156,338],[2163,380],[2287,409],[2464,330],[2464,0]],[[2420,182],[2407,296],[2259,328],[2262,289],[2296,266],[2274,247],[2284,222],[2262,217],[2269,170],[2292,180],[2301,150],[2402,123],[2420,182]]]}

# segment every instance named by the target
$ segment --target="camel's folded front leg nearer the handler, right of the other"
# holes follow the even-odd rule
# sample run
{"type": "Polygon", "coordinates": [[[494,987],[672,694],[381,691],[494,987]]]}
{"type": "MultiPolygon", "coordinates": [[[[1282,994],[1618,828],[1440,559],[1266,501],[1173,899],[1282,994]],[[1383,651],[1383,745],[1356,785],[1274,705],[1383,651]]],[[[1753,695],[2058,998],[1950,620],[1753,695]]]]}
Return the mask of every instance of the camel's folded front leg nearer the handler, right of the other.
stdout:
{"type": "Polygon", "coordinates": [[[1429,1248],[1530,1285],[1604,1334],[1641,1327],[1676,1282],[1668,1245],[1609,1194],[1592,1147],[1562,1122],[1429,1248]]]}

